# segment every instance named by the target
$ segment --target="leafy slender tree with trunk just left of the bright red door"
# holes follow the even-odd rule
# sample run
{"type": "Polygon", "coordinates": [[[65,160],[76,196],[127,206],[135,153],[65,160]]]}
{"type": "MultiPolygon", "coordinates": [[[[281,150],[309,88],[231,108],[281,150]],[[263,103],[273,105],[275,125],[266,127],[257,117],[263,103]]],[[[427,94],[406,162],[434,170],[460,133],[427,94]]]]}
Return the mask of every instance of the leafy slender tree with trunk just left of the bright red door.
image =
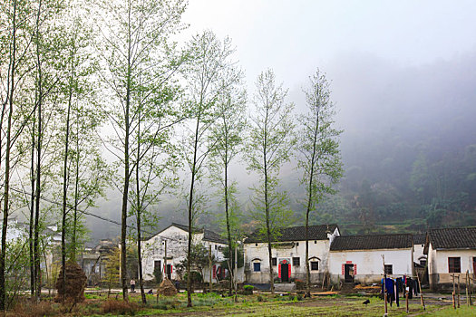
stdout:
{"type": "Polygon", "coordinates": [[[250,119],[248,140],[248,169],[259,176],[260,184],[254,187],[252,214],[257,218],[260,233],[267,242],[269,283],[274,293],[272,243],[279,235],[279,228],[287,224],[290,210],[287,194],[279,191],[279,170],[289,161],[296,143],[293,136],[295,124],[291,116],[294,104],[285,101],[287,91],[276,84],[271,70],[257,77],[254,109],[250,119]]]}

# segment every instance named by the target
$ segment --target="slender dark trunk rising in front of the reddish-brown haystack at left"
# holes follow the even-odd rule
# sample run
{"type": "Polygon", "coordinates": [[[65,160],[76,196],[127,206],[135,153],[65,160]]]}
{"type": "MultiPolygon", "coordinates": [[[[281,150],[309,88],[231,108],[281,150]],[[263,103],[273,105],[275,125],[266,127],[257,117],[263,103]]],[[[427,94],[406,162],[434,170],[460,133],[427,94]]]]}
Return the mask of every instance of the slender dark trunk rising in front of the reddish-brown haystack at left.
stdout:
{"type": "Polygon", "coordinates": [[[70,115],[71,115],[71,101],[73,98],[73,73],[71,73],[69,95],[68,95],[68,110],[66,114],[66,135],[64,139],[64,159],[63,159],[63,212],[61,221],[61,264],[63,266],[62,284],[63,284],[63,302],[66,294],[66,203],[67,203],[67,180],[68,180],[68,152],[70,145],[70,115]]]}

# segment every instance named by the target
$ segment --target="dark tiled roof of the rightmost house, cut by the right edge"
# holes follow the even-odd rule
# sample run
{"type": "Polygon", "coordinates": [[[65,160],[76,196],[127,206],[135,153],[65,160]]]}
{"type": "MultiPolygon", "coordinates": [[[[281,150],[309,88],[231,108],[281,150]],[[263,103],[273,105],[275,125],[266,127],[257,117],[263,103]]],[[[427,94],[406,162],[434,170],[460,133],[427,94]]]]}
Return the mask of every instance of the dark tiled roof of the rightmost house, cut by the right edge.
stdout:
{"type": "Polygon", "coordinates": [[[428,235],[433,249],[476,249],[476,226],[431,229],[428,235]]]}

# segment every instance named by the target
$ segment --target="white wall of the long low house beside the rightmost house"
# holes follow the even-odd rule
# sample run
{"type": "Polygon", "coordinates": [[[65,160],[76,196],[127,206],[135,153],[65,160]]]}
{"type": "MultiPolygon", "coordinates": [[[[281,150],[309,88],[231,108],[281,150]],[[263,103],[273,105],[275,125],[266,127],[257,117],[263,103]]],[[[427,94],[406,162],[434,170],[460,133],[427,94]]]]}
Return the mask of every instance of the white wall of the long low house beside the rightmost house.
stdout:
{"type": "Polygon", "coordinates": [[[393,275],[413,274],[413,248],[394,250],[331,251],[329,272],[333,283],[344,281],[344,264],[355,264],[355,282],[379,283],[385,264],[393,264],[393,275]]]}

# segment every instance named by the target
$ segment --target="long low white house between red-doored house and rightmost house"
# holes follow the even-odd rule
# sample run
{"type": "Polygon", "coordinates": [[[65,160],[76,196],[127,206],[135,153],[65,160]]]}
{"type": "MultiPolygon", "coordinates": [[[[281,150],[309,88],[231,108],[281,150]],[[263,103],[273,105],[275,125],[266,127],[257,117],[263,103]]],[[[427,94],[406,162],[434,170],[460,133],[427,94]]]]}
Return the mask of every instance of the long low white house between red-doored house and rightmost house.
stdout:
{"type": "Polygon", "coordinates": [[[332,283],[379,283],[384,271],[413,275],[412,235],[336,236],[329,254],[332,283]]]}

